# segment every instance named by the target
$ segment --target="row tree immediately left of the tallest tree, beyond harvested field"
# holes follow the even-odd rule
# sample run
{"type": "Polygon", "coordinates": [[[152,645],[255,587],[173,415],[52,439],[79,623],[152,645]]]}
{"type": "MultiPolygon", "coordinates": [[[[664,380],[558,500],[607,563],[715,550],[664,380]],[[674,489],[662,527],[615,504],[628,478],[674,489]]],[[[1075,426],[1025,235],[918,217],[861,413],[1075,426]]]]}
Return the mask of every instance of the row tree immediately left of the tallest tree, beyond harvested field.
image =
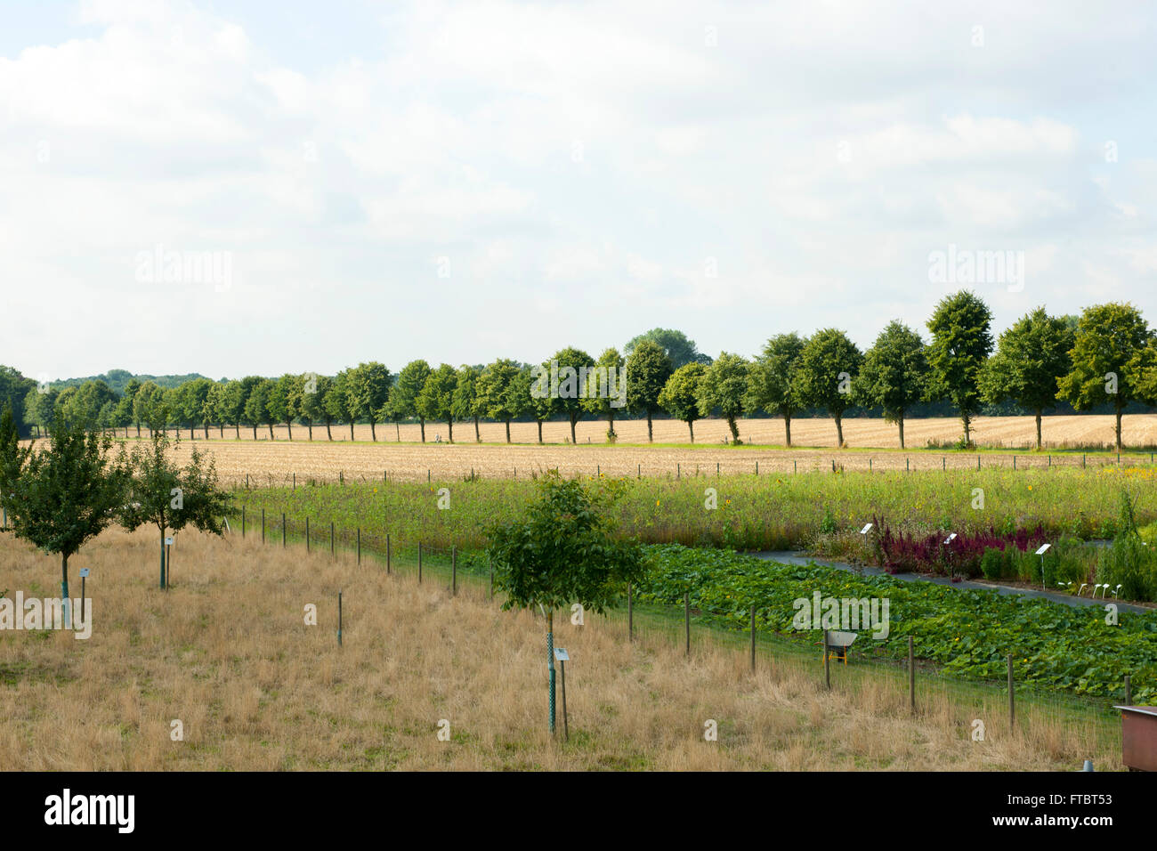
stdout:
{"type": "Polygon", "coordinates": [[[904,415],[924,397],[928,355],[920,335],[899,320],[889,323],[864,354],[852,396],[864,408],[884,409],[884,419],[900,428],[904,448],[904,415]]]}

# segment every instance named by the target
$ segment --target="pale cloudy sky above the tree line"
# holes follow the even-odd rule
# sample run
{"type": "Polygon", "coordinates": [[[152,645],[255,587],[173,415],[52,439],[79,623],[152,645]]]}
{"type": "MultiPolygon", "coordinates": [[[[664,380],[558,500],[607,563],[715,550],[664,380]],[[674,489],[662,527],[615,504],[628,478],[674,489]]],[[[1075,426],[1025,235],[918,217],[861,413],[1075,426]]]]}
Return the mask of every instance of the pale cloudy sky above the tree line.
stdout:
{"type": "Polygon", "coordinates": [[[2,0],[0,364],[1157,324],[1157,6],[1030,6],[2,0]]]}

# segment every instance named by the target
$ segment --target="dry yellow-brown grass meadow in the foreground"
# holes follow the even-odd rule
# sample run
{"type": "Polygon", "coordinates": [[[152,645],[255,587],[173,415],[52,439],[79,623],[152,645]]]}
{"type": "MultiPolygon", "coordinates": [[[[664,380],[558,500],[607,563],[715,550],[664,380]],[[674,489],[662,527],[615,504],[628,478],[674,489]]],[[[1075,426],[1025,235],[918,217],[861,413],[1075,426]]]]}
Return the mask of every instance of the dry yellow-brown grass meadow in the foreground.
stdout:
{"type": "MultiPolygon", "coordinates": [[[[500,611],[482,588],[451,599],[440,579],[418,585],[348,556],[192,533],[168,592],[143,531],[109,531],[74,566],[93,571],[90,639],[0,633],[6,769],[1051,770],[1120,760],[1071,722],[1029,719],[1012,734],[995,717],[988,740],[973,742],[974,710],[943,694],[922,695],[911,717],[887,680],[826,692],[815,659],[761,658],[753,675],[742,650],[706,631],[687,660],[657,637],[632,645],[598,617],[557,619],[574,661],[570,740],[554,742],[544,624],[500,611]],[[303,624],[305,603],[320,625],[303,624]],[[172,719],[184,741],[170,740],[172,719]],[[707,719],[717,742],[703,740],[707,719]]],[[[59,565],[6,535],[3,587],[54,596],[59,565]]]]}

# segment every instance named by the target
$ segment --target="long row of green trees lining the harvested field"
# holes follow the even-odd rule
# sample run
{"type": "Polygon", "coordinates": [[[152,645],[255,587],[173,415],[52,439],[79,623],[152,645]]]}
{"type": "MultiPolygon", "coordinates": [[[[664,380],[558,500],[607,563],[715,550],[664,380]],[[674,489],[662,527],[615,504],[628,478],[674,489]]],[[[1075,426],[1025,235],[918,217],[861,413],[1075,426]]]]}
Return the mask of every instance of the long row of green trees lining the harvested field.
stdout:
{"type": "MultiPolygon", "coordinates": [[[[975,294],[960,291],[945,296],[929,318],[928,342],[897,320],[885,328],[868,351],[838,329],[823,329],[810,337],[781,333],[767,342],[754,359],[723,352],[712,360],[695,351],[678,331],[655,329],[631,340],[620,353],[605,350],[597,359],[568,346],[544,365],[502,358],[488,365],[432,367],[414,360],[393,374],[370,361],[334,376],[303,374],[278,379],[248,376],[235,381],[199,377],[162,388],[135,379],[124,393],[90,381],[79,387],[36,388],[23,399],[24,419],[40,425],[58,406],[103,428],[137,427],[157,421],[163,427],[226,427],[252,430],[285,425],[304,426],[314,439],[315,426],[324,426],[332,440],[334,424],[369,423],[377,440],[377,425],[413,421],[426,440],[427,421],[445,423],[454,440],[456,423],[473,423],[480,440],[482,419],[506,424],[532,419],[541,442],[544,421],[562,418],[575,426],[584,416],[607,420],[607,440],[616,439],[616,418],[646,417],[648,439],[655,416],[684,420],[694,440],[694,423],[717,413],[727,419],[731,438],[739,442],[736,420],[767,413],[782,417],[786,442],[791,445],[791,419],[805,411],[825,411],[843,445],[842,419],[849,409],[883,411],[899,428],[918,406],[948,403],[961,420],[960,445],[971,445],[972,418],[985,404],[1014,402],[1037,419],[1037,445],[1041,445],[1041,416],[1067,402],[1075,410],[1110,405],[1117,415],[1117,446],[1121,446],[1121,415],[1134,403],[1157,404],[1157,340],[1144,317],[1132,305],[1106,303],[1088,308],[1079,317],[1049,316],[1038,308],[994,339],[992,311],[975,294]],[[613,393],[536,393],[541,368],[557,364],[566,374],[626,375],[625,396],[613,393]],[[613,371],[613,372],[612,372],[613,371]]],[[[2,377],[2,376],[0,376],[2,377]]],[[[613,382],[612,382],[613,384],[613,382]]]]}

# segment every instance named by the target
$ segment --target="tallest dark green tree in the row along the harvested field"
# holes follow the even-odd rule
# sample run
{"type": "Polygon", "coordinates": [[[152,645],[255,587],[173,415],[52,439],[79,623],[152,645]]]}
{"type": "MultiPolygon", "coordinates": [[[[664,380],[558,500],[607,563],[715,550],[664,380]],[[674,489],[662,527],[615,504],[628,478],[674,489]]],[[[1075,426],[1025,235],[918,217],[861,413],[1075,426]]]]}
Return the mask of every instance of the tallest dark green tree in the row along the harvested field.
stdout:
{"type": "Polygon", "coordinates": [[[978,376],[993,351],[993,314],[980,298],[961,289],[941,299],[928,320],[927,401],[948,398],[960,413],[965,446],[972,442],[972,417],[980,405],[978,376]]]}

